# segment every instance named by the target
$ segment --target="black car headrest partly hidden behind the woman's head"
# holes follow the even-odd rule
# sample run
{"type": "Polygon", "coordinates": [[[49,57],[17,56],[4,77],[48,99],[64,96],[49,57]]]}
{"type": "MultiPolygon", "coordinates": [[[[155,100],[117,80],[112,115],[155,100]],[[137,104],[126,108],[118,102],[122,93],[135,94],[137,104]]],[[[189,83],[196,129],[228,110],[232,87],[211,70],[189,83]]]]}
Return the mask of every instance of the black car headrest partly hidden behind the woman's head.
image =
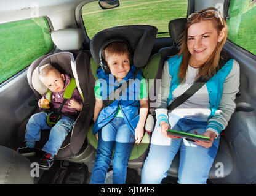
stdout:
{"type": "Polygon", "coordinates": [[[178,18],[169,22],[169,34],[175,45],[180,42],[180,38],[185,31],[186,21],[186,18],[178,18]]]}

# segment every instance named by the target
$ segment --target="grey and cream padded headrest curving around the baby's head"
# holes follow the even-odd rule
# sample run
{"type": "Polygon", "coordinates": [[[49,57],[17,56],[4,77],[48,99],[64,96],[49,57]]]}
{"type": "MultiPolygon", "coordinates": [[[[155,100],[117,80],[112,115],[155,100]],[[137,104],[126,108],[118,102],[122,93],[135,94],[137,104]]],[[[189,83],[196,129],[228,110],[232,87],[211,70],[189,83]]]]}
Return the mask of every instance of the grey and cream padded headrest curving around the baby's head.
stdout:
{"type": "MultiPolygon", "coordinates": [[[[62,51],[60,53],[54,53],[51,55],[42,56],[42,58],[36,59],[31,66],[31,85],[33,89],[39,94],[44,94],[47,91],[47,87],[39,79],[39,70],[52,64],[60,73],[69,74],[70,77],[74,78],[72,67],[74,65],[74,56],[70,52],[62,51]]],[[[30,83],[30,81],[29,81],[30,83]]]]}

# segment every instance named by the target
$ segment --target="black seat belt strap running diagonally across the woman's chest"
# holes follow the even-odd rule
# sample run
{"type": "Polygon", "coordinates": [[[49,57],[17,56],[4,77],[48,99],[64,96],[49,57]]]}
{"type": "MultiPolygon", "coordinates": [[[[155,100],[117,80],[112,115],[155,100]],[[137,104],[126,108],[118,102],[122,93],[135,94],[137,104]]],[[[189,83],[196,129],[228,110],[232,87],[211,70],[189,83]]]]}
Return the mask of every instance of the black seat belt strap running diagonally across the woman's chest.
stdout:
{"type": "MultiPolygon", "coordinates": [[[[222,67],[229,60],[230,59],[220,59],[218,67],[216,69],[216,73],[218,72],[218,70],[222,69],[222,67]]],[[[212,77],[213,76],[214,74],[212,74],[212,77]]],[[[196,80],[196,82],[192,86],[190,86],[190,88],[188,88],[182,95],[178,96],[177,99],[175,99],[169,105],[169,107],[167,108],[168,113],[177,108],[179,105],[183,104],[183,102],[188,100],[191,96],[193,96],[193,94],[195,94],[200,88],[202,88],[202,86],[204,86],[207,83],[207,81],[210,80],[210,78],[211,77],[209,77],[209,75],[207,75],[205,78],[199,77],[198,80],[196,80]]]]}

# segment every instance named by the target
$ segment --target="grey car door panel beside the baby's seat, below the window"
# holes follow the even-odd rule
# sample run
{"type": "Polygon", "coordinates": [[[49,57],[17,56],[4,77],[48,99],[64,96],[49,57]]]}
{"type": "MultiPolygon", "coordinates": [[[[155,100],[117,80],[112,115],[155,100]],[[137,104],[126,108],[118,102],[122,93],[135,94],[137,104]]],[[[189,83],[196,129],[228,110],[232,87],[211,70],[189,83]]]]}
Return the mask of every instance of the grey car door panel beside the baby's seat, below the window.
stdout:
{"type": "Polygon", "coordinates": [[[26,71],[0,88],[0,145],[14,148],[20,124],[37,107],[36,96],[28,85],[26,71]]]}

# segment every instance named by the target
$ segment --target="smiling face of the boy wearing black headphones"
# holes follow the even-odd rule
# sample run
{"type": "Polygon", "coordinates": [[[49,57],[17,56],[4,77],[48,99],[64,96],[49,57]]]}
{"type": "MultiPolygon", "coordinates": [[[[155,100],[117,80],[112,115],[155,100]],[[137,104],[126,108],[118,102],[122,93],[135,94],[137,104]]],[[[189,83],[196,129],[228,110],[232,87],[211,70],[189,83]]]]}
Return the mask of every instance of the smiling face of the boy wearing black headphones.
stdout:
{"type": "Polygon", "coordinates": [[[110,72],[113,74],[117,80],[122,80],[126,77],[130,70],[130,59],[129,54],[111,54],[106,55],[106,62],[108,62],[108,67],[110,67],[110,72]]]}

